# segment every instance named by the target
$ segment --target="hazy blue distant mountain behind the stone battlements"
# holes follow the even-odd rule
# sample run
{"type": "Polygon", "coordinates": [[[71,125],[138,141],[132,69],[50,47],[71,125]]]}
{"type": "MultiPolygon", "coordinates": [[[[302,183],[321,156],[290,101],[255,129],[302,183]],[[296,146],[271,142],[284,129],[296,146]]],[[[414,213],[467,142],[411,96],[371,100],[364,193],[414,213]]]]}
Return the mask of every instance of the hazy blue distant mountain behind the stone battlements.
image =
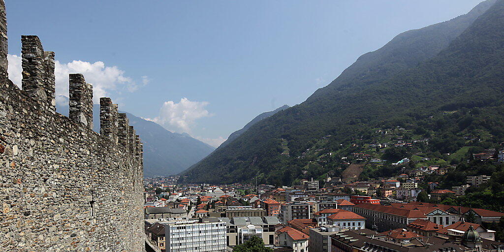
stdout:
{"type": "MultiPolygon", "coordinates": [[[[56,110],[68,116],[68,106],[56,105],[56,110]]],[[[123,113],[123,112],[121,112],[123,113]]],[[[144,144],[144,176],[177,174],[197,163],[214,148],[186,134],[167,131],[159,124],[125,112],[130,125],[144,144]]],[[[95,132],[100,132],[100,105],[93,106],[95,132]]]]}

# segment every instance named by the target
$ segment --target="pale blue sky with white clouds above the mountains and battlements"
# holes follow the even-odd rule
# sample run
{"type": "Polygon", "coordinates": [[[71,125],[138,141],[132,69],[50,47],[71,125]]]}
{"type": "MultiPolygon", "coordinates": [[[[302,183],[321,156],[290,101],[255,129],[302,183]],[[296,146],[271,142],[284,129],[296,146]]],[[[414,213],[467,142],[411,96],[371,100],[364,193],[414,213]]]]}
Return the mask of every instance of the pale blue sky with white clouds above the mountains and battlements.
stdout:
{"type": "Polygon", "coordinates": [[[56,53],[57,94],[82,72],[120,110],[216,146],[397,34],[479,2],[6,0],[10,76],[20,78],[20,36],[38,35],[56,53]]]}

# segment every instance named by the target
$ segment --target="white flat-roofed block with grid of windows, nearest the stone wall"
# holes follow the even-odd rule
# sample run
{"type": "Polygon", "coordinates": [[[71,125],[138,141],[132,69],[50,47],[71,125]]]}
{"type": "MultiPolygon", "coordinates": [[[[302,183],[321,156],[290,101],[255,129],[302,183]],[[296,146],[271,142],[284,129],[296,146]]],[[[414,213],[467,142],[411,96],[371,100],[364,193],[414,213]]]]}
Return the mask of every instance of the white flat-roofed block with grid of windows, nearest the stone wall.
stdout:
{"type": "Polygon", "coordinates": [[[226,251],[226,223],[178,221],[165,224],[167,252],[226,251]]]}

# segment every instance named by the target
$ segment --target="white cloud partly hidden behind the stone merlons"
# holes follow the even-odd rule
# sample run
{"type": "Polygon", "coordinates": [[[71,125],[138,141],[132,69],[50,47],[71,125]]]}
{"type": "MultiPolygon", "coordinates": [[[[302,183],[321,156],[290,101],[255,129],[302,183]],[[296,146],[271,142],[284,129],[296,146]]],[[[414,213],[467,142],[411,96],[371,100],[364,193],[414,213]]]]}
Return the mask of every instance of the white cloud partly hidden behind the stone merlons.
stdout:
{"type": "MultiPolygon", "coordinates": [[[[9,59],[9,79],[21,88],[22,66],[21,57],[18,55],[8,55],[9,59]]],[[[124,76],[124,71],[115,66],[107,67],[104,62],[94,63],[74,60],[67,64],[55,61],[54,74],[56,77],[56,97],[68,96],[69,74],[83,74],[87,83],[93,84],[93,100],[98,103],[100,97],[110,96],[111,91],[119,92],[127,89],[134,92],[139,85],[130,77],[124,76]]],[[[142,85],[147,85],[149,78],[142,77],[142,85]]]]}

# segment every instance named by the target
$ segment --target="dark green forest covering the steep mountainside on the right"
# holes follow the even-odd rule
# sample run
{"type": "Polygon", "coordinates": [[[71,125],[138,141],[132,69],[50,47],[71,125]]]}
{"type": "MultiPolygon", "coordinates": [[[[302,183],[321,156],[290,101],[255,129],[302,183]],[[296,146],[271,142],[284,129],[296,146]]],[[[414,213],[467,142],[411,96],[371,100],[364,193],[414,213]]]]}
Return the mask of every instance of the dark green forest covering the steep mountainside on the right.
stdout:
{"type": "Polygon", "coordinates": [[[501,0],[400,34],[359,57],[305,102],[250,127],[188,169],[181,182],[258,178],[290,184],[299,178],[323,178],[329,171],[338,176],[356,159],[355,153],[365,152],[387,163],[366,165],[362,178],[392,176],[424,159],[456,167],[433,178],[445,182],[480,169],[498,172],[498,167],[467,161],[473,153],[499,148],[504,141],[503,45],[501,0]],[[402,132],[394,133],[396,139],[387,140],[415,143],[384,152],[368,148],[384,140],[382,132],[397,129],[402,132]],[[391,165],[404,157],[411,162],[391,165]]]}

